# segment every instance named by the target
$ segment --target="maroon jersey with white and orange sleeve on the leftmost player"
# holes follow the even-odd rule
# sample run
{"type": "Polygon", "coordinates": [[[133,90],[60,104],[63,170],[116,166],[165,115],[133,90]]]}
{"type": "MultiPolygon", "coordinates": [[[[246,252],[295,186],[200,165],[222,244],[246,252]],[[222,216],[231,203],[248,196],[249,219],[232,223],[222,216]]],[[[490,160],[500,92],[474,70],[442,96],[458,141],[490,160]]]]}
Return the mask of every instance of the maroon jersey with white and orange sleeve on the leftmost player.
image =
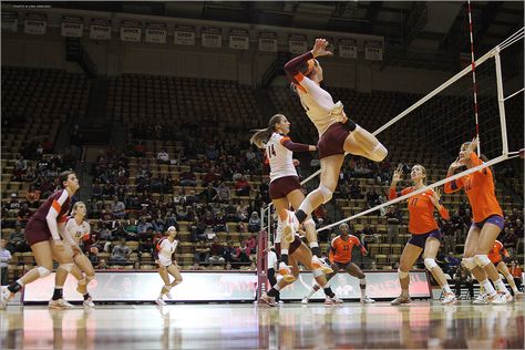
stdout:
{"type": "Polygon", "coordinates": [[[47,240],[50,237],[60,239],[58,225],[65,224],[68,212],[70,209],[71,198],[68,191],[61,189],[53,193],[42,204],[25,226],[25,238],[30,245],[47,240]],[[53,218],[48,223],[48,217],[53,218]]]}

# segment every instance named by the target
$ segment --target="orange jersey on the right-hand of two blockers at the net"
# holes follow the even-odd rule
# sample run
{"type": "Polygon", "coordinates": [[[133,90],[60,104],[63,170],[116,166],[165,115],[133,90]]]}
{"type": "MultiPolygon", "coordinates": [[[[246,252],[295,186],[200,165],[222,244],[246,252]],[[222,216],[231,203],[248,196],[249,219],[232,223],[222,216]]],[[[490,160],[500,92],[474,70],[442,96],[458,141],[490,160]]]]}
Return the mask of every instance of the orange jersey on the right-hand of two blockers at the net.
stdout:
{"type": "MultiPolygon", "coordinates": [[[[474,152],[471,154],[471,161],[474,166],[483,164],[483,161],[474,152]]],[[[502,208],[495,195],[494,177],[491,168],[485,167],[445,184],[445,193],[454,193],[461,188],[464,188],[469,196],[474,223],[481,223],[492,215],[503,217],[502,208]]]]}

